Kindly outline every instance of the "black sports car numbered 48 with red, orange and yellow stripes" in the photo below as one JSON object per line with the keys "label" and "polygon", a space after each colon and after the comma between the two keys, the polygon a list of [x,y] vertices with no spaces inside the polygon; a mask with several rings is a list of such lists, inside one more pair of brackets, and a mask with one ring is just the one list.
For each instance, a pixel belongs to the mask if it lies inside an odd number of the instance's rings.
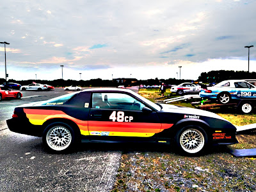
{"label": "black sports car numbered 48 with red, orange and yellow stripes", "polygon": [[237,143],[236,127],[219,115],[156,104],[127,89],[86,89],[20,105],[7,124],[11,131],[43,137],[52,151],[81,142],[174,140],[180,152],[199,154],[207,144]]}

